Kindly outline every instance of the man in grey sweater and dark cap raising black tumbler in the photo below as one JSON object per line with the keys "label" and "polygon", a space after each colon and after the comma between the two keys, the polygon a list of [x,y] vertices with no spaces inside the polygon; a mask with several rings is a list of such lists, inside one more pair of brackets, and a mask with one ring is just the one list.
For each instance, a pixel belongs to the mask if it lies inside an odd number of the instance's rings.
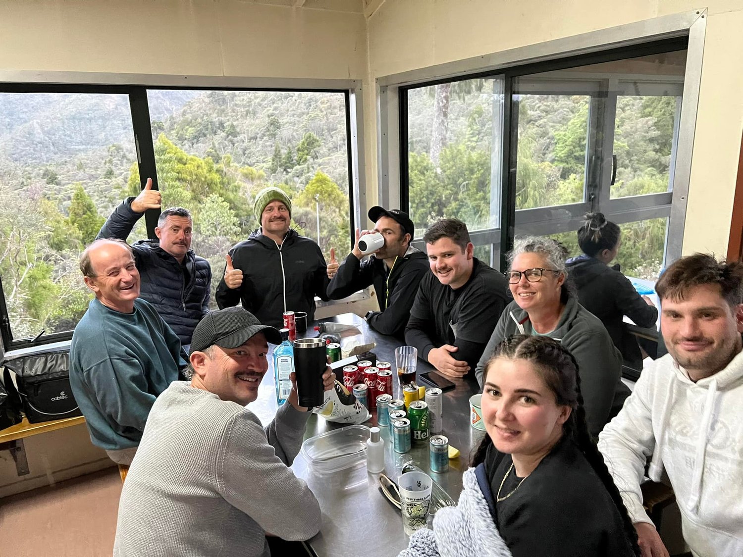
{"label": "man in grey sweater and dark cap raising black tumbler", "polygon": [[[114,556],[268,556],[267,535],[317,534],[317,499],[289,468],[310,415],[299,406],[294,374],[265,429],[245,408],[268,369],[268,342],[279,344],[279,331],[242,307],[196,325],[191,381],[173,382],[152,405],[126,477]],[[332,388],[330,368],[322,380]]]}

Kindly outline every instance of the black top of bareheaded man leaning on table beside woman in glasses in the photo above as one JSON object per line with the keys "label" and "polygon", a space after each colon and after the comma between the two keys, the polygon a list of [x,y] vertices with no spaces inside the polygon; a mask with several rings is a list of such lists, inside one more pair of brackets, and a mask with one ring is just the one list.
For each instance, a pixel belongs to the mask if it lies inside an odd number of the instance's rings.
{"label": "black top of bareheaded man leaning on table beside woman in glasses", "polygon": [[[481,344],[484,349],[510,302],[507,290],[504,276],[478,258],[473,258],[470,279],[456,290],[441,284],[433,273],[426,273],[410,310],[409,326],[412,322],[425,333],[432,343],[428,350],[445,344],[457,345],[460,340]],[[421,356],[427,356],[428,350]],[[421,352],[421,347],[418,351]]]}

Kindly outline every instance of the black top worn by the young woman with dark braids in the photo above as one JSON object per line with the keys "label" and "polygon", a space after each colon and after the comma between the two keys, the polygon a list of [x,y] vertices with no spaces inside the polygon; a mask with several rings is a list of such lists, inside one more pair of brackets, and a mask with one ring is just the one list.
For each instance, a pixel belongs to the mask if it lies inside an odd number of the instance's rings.
{"label": "black top worn by the young woman with dark braids", "polygon": [[526,478],[514,467],[503,481],[512,463],[490,446],[485,471],[493,518],[513,557],[635,555],[611,495],[571,440],[560,440]]}

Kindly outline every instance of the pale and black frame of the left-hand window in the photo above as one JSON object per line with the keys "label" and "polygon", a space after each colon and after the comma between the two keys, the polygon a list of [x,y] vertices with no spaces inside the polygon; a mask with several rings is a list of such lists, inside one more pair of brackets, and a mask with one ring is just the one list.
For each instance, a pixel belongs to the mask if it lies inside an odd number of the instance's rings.
{"label": "pale and black frame of the left-hand window", "polygon": [[[179,79],[180,78],[180,79]],[[186,80],[190,79],[187,85]],[[212,76],[156,76],[143,74],[100,74],[89,72],[0,71],[0,93],[93,93],[126,94],[132,114],[132,132],[139,166],[140,188],[152,177],[158,189],[155,145],[149,116],[147,91],[154,89],[190,91],[268,91],[343,94],[345,108],[346,154],[348,159],[349,249],[353,247],[354,229],[366,216],[366,180],[363,172],[363,96],[362,83],[354,79],[271,79]],[[147,235],[155,238],[159,209],[145,213]],[[81,278],[82,280],[82,278]],[[10,351],[43,347],[53,342],[68,342],[73,330],[40,333],[36,338],[13,338],[10,315],[0,277],[0,357]]]}

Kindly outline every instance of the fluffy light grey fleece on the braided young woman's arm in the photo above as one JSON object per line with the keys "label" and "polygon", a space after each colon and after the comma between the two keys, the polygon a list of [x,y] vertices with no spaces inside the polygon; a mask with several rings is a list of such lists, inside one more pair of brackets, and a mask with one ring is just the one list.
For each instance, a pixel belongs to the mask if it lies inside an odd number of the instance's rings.
{"label": "fluffy light grey fleece on the braided young woman's arm", "polygon": [[440,509],[433,519],[433,530],[415,532],[398,557],[511,557],[475,470],[464,472],[457,506]]}

